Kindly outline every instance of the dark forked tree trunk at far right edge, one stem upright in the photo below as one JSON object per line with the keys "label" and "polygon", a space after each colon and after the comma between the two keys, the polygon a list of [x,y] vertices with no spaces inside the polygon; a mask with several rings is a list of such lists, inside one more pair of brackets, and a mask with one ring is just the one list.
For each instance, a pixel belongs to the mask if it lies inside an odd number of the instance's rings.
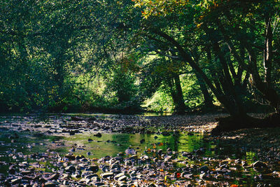
{"label": "dark forked tree trunk at far right edge, one stem upright", "polygon": [[[229,15],[228,15],[229,16]],[[230,18],[229,18],[230,19]],[[218,27],[221,30],[221,33],[223,34],[225,41],[227,41],[228,46],[230,48],[230,52],[232,53],[232,56],[235,57],[235,60],[239,62],[242,69],[245,69],[248,73],[252,75],[253,78],[253,85],[255,85],[255,88],[257,88],[261,93],[262,97],[267,99],[270,106],[272,106],[276,113],[280,112],[280,95],[279,93],[274,89],[272,85],[271,80],[271,72],[272,72],[272,40],[273,40],[273,32],[272,32],[272,20],[271,15],[269,12],[265,13],[265,46],[263,50],[263,67],[265,69],[265,78],[262,80],[259,69],[257,66],[257,54],[251,43],[244,40],[244,38],[239,37],[239,33],[241,33],[241,30],[238,28],[232,28],[232,31],[234,31],[237,35],[237,39],[240,42],[241,49],[244,48],[247,50],[249,55],[249,63],[244,63],[244,60],[238,55],[237,50],[235,46],[233,45],[230,37],[225,32],[225,28],[221,24],[221,22],[218,22]]]}

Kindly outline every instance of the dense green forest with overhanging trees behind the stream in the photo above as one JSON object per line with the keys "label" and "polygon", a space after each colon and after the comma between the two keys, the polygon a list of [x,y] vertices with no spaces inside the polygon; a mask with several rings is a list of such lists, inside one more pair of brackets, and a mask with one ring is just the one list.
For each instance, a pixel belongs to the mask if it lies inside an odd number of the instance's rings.
{"label": "dense green forest with overhanging trees behind the stream", "polygon": [[222,107],[255,122],[246,113],[280,111],[279,11],[276,0],[1,1],[0,111]]}

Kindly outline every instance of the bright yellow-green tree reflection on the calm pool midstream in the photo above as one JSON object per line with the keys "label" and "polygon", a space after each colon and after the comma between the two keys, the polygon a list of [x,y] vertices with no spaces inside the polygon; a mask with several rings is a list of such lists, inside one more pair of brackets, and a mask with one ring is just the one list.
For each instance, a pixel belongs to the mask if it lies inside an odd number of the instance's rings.
{"label": "bright yellow-green tree reflection on the calm pool midstream", "polygon": [[[198,148],[209,148],[210,144],[202,141],[202,134],[175,134],[163,136],[162,134],[102,134],[102,137],[94,137],[91,134],[77,134],[73,137],[65,137],[66,146],[75,146],[76,153],[86,155],[90,152],[90,158],[101,158],[106,155],[116,156],[125,152],[127,148],[134,148],[143,153],[147,148],[162,149],[166,151],[194,151]],[[88,139],[93,141],[89,142]]]}

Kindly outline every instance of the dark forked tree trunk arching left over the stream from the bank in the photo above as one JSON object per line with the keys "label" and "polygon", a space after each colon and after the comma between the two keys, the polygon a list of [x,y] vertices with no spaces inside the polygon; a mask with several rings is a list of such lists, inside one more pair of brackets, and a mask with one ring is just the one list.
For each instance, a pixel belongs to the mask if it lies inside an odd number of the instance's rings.
{"label": "dark forked tree trunk arching left over the stream from the bank", "polygon": [[[229,131],[229,130],[237,130],[237,129],[248,128],[248,127],[267,127],[267,125],[270,126],[279,125],[280,122],[279,113],[276,113],[274,116],[265,119],[253,118],[246,114],[243,108],[243,103],[239,98],[240,96],[236,92],[235,86],[232,83],[232,78],[229,74],[229,69],[223,58],[223,54],[221,53],[221,50],[217,45],[218,43],[214,42],[213,43],[214,45],[211,47],[214,49],[214,51],[216,50],[216,55],[219,57],[221,66],[223,67],[223,72],[220,73],[221,77],[218,76],[220,80],[214,81],[215,83],[214,85],[213,81],[211,81],[209,77],[204,73],[204,71],[202,71],[202,69],[197,64],[197,62],[193,60],[190,53],[186,52],[185,49],[180,45],[180,43],[178,43],[174,38],[172,38],[168,34],[165,34],[164,32],[160,32],[158,30],[153,32],[155,34],[158,34],[159,36],[162,36],[167,41],[169,41],[172,45],[174,45],[174,47],[177,48],[183,60],[186,60],[186,62],[190,64],[190,67],[195,69],[195,71],[197,71],[197,73],[200,74],[200,76],[202,76],[204,82],[207,83],[211,91],[214,92],[214,95],[217,97],[219,102],[221,102],[221,104],[225,106],[225,109],[228,110],[228,113],[230,113],[230,117],[218,119],[219,120],[218,126],[214,129],[213,133]],[[247,49],[247,46],[244,47]],[[237,53],[235,53],[235,55],[236,57],[239,57]],[[257,73],[256,75],[259,76],[258,72],[256,73]],[[263,82],[260,82],[261,85],[262,83]]]}

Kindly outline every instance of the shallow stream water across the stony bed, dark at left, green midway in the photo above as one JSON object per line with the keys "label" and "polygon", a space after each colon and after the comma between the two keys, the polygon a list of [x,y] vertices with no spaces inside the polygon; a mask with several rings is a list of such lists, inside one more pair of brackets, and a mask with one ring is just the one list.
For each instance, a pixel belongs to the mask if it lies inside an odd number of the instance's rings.
{"label": "shallow stream water across the stony bed, dark at left, green midway", "polygon": [[[47,116],[38,118],[38,116],[1,116],[0,118],[0,163],[1,162],[36,162],[32,158],[34,154],[55,153],[59,156],[73,153],[74,155],[85,155],[86,158],[99,159],[107,155],[116,157],[120,153],[126,153],[127,149],[136,151],[136,154],[149,154],[151,150],[157,153],[174,151],[180,153],[176,160],[186,160],[183,153],[197,153],[202,150],[200,160],[188,160],[196,165],[204,165],[210,162],[213,167],[220,161],[211,162],[209,158],[218,158],[221,160],[231,159],[244,160],[248,165],[258,160],[256,154],[251,151],[244,151],[240,148],[230,145],[219,145],[216,142],[205,141],[204,134],[190,132],[168,132],[162,134],[160,131],[148,130],[147,133],[119,133],[115,132],[115,126],[108,126],[103,129],[93,128],[87,121],[71,121],[71,115]],[[110,120],[119,120],[118,116],[111,115],[83,115],[83,118],[97,116],[100,120],[97,123],[111,124]],[[126,119],[130,119],[127,118]],[[139,118],[137,118],[139,119]],[[140,118],[143,120],[142,118]],[[144,122],[146,120],[143,120]],[[138,123],[138,122],[137,122]],[[146,123],[145,123],[146,124]],[[66,127],[66,125],[68,125]],[[69,126],[71,127],[69,130]],[[94,127],[95,127],[94,126]],[[151,128],[151,127],[147,127]],[[105,130],[104,130],[105,129]],[[73,130],[75,133],[71,134]],[[70,133],[69,133],[70,132]],[[97,135],[97,133],[100,133]],[[235,161],[232,161],[235,162]],[[231,183],[242,185],[256,185],[254,176],[260,172],[250,169],[238,169],[239,172],[232,174],[233,179],[228,179]],[[8,174],[8,165],[0,164],[0,174]],[[236,179],[235,179],[236,178]],[[238,180],[242,179],[243,182]],[[227,180],[227,179],[223,179]],[[269,179],[268,183],[279,184],[279,180]]]}

